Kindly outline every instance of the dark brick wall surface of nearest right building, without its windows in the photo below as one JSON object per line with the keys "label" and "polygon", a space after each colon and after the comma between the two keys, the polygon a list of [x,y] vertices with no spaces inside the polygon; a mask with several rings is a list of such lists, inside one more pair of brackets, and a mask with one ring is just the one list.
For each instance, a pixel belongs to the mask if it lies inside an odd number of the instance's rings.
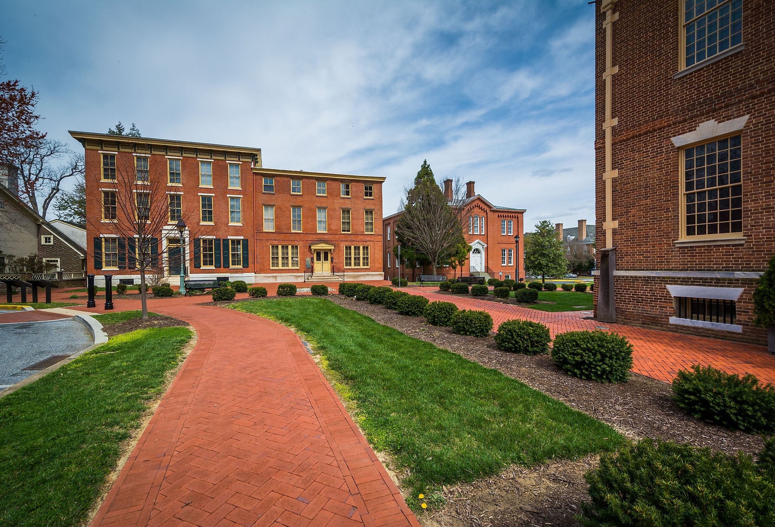
{"label": "dark brick wall surface of nearest right building, without its windows", "polygon": [[[763,343],[765,331],[753,325],[751,294],[757,274],[763,272],[775,252],[775,10],[766,0],[743,0],[744,45],[728,56],[710,57],[682,71],[684,2],[606,0],[598,5],[605,9],[611,3],[610,14],[618,13],[612,23],[611,41],[612,66],[618,67],[612,75],[611,91],[611,118],[616,119],[611,128],[611,157],[612,168],[618,171],[612,183],[611,219],[618,221],[618,227],[612,230],[610,240],[601,229],[597,247],[598,258],[601,248],[616,247],[616,319]],[[598,11],[598,226],[606,212],[605,20],[606,13]],[[738,132],[717,136],[698,132],[697,140],[683,144],[676,140],[679,146],[673,141],[711,120],[723,125],[746,116],[747,122]],[[707,129],[708,124],[704,127]],[[742,235],[719,234],[716,239],[687,236],[689,231],[681,226],[682,149],[735,134],[742,137]],[[654,273],[641,277],[633,276],[637,274],[634,271]],[[670,317],[676,316],[673,297],[666,287],[671,284],[744,288],[736,302],[737,325],[742,331],[670,323]],[[596,287],[596,314],[597,295]]]}

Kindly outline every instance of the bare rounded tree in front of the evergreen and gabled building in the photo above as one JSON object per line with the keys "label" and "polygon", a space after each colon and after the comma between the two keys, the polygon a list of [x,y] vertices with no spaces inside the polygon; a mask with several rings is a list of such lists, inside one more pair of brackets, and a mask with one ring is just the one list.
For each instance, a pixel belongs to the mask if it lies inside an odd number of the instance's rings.
{"label": "bare rounded tree in front of the evergreen and gabled building", "polygon": [[396,234],[402,243],[428,257],[436,274],[441,260],[452,255],[457,244],[463,242],[465,191],[460,178],[453,182],[451,197],[444,194],[442,182],[418,180],[414,187],[405,190]]}

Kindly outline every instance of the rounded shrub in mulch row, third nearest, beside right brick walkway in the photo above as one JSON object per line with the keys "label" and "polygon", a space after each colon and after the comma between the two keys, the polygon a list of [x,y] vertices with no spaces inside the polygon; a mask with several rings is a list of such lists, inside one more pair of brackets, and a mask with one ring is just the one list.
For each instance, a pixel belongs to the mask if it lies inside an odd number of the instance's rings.
{"label": "rounded shrub in mulch row, third nearest, beside right brick walkway", "polygon": [[569,331],[555,337],[552,360],[571,377],[627,382],[632,367],[632,344],[623,336],[599,329]]}

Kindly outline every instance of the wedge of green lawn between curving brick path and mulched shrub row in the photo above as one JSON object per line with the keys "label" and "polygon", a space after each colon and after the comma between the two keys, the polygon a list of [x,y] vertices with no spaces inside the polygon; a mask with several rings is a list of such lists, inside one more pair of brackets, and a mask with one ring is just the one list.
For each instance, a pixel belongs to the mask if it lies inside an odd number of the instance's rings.
{"label": "wedge of green lawn between curving brick path and mulched shrub row", "polygon": [[[413,495],[441,484],[615,449],[617,432],[540,391],[323,298],[230,306],[302,332],[377,450],[410,469]],[[416,505],[416,504],[415,504]]]}

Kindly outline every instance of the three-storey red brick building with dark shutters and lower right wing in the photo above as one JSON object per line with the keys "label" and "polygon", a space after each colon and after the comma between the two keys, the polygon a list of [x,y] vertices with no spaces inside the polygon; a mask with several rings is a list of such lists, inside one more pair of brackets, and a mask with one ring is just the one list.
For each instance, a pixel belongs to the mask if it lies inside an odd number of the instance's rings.
{"label": "three-storey red brick building with dark shutters and lower right wing", "polygon": [[126,210],[158,226],[151,267],[172,284],[181,261],[191,277],[248,283],[382,277],[384,177],[266,169],[259,148],[71,136],[84,146],[87,270],[97,284],[104,274],[139,281],[136,243],[120,227]]}

